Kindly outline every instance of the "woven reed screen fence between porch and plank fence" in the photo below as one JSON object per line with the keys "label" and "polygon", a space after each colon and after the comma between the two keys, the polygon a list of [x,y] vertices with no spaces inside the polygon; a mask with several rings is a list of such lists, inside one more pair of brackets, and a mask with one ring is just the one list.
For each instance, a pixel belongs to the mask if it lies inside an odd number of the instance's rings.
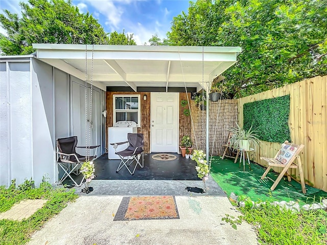
{"label": "woven reed screen fence between porch and plank fence", "polygon": [[[227,142],[228,129],[236,127],[237,106],[237,100],[209,101],[209,151],[213,156],[223,155],[224,148],[222,145]],[[191,113],[194,126],[194,131],[192,130],[193,148],[196,149],[197,142],[198,150],[205,151],[206,111],[200,110],[192,101]],[[214,144],[215,131],[216,140]]]}

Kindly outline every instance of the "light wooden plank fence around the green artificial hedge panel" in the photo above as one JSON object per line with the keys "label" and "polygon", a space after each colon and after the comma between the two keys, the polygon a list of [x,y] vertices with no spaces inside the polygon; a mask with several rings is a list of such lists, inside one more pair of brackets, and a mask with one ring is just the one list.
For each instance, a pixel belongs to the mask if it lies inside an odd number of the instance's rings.
{"label": "light wooden plank fence around the green artificial hedge panel", "polygon": [[[327,76],[315,77],[284,87],[238,99],[239,124],[243,126],[245,103],[290,95],[289,127],[292,142],[304,144],[300,157],[307,184],[327,191]],[[269,118],[268,118],[269,119]],[[251,154],[252,160],[261,165],[260,157],[274,157],[281,144],[261,141],[261,148]],[[275,171],[281,169],[275,168]],[[299,179],[298,170],[291,175]]]}

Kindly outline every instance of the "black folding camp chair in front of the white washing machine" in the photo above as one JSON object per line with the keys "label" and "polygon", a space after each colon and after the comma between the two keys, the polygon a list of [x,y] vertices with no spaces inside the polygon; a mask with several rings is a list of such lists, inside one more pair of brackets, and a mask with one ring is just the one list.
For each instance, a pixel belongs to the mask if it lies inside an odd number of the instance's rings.
{"label": "black folding camp chair in front of the white washing machine", "polygon": [[[127,148],[123,151],[116,152],[117,146],[122,144],[128,144]],[[144,167],[144,154],[143,154],[143,146],[144,146],[144,139],[143,134],[134,134],[128,133],[127,134],[127,141],[125,142],[118,142],[118,143],[111,143],[115,150],[115,154],[118,155],[121,159],[121,162],[116,169],[116,173],[125,166],[131,175],[134,175],[135,169],[137,165],[140,167]],[[142,157],[142,159],[141,159]],[[125,159],[126,158],[126,159]],[[139,161],[142,161],[140,163]],[[133,171],[129,169],[130,166],[135,161],[135,166]]]}

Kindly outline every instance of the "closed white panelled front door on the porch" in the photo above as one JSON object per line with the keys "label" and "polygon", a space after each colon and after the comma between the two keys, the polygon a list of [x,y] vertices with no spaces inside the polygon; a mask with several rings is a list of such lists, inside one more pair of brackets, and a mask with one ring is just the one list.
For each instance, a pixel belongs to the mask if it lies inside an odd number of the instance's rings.
{"label": "closed white panelled front door on the porch", "polygon": [[178,152],[178,93],[151,93],[151,152]]}

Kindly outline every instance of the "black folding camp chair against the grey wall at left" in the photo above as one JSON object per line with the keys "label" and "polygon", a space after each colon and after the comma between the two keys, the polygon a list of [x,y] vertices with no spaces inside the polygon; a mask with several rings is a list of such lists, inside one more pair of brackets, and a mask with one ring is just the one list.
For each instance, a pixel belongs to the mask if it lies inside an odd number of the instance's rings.
{"label": "black folding camp chair against the grey wall at left", "polygon": [[64,171],[63,176],[58,181],[58,185],[60,185],[67,177],[71,179],[76,186],[81,186],[84,180],[84,177],[80,184],[77,184],[73,179],[72,174],[79,175],[79,167],[85,162],[86,157],[81,156],[76,153],[76,148],[89,148],[95,149],[94,156],[90,156],[89,160],[95,159],[97,157],[97,149],[100,145],[94,146],[77,146],[77,136],[71,136],[67,138],[59,138],[57,139],[57,167],[59,171],[59,166]]}

